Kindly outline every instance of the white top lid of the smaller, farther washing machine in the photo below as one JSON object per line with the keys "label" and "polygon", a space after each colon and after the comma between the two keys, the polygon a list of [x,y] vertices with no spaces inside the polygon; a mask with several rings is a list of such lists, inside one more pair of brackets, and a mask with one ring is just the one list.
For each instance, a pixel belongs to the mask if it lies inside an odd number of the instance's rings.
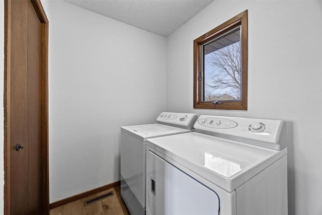
{"label": "white top lid of the smaller, farther washing machine", "polygon": [[171,134],[180,134],[186,132],[192,132],[194,130],[187,130],[183,128],[163,125],[163,124],[144,124],[144,125],[131,125],[123,126],[121,130],[140,139],[146,141],[147,138],[165,136]]}

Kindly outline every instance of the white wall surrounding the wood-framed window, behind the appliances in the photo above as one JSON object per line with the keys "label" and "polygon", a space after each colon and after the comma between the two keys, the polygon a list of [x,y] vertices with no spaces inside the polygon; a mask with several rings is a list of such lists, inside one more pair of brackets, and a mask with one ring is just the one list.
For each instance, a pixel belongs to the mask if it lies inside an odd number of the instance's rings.
{"label": "white wall surrounding the wood-framed window, behind the appliances", "polygon": [[[246,9],[248,110],[193,109],[193,40]],[[167,111],[287,122],[292,215],[322,214],[321,20],[321,1],[215,1],[167,40]]]}

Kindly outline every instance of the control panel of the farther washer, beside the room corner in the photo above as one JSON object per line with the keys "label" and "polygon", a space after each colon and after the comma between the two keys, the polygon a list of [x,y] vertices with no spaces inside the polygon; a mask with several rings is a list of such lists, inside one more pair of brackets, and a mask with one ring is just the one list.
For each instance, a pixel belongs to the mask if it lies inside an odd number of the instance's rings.
{"label": "control panel of the farther washer, beside the room corner", "polygon": [[194,129],[198,116],[195,113],[172,113],[162,112],[156,118],[156,121],[160,124],[167,124],[178,126],[186,129]]}

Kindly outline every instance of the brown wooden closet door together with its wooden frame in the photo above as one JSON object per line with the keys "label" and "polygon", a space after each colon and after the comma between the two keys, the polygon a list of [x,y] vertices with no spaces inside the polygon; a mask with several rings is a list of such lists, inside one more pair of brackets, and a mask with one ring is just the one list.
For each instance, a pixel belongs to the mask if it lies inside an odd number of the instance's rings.
{"label": "brown wooden closet door together with its wooden frame", "polygon": [[[48,21],[5,2],[5,213],[48,214]],[[24,147],[17,151],[17,144]]]}

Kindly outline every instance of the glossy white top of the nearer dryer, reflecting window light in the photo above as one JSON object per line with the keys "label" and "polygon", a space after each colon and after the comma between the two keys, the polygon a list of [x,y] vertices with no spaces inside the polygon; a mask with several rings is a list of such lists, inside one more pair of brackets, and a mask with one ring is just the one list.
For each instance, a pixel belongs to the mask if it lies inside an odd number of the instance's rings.
{"label": "glossy white top of the nearer dryer, reflecting window light", "polygon": [[149,139],[147,146],[228,192],[286,154],[196,132]]}

